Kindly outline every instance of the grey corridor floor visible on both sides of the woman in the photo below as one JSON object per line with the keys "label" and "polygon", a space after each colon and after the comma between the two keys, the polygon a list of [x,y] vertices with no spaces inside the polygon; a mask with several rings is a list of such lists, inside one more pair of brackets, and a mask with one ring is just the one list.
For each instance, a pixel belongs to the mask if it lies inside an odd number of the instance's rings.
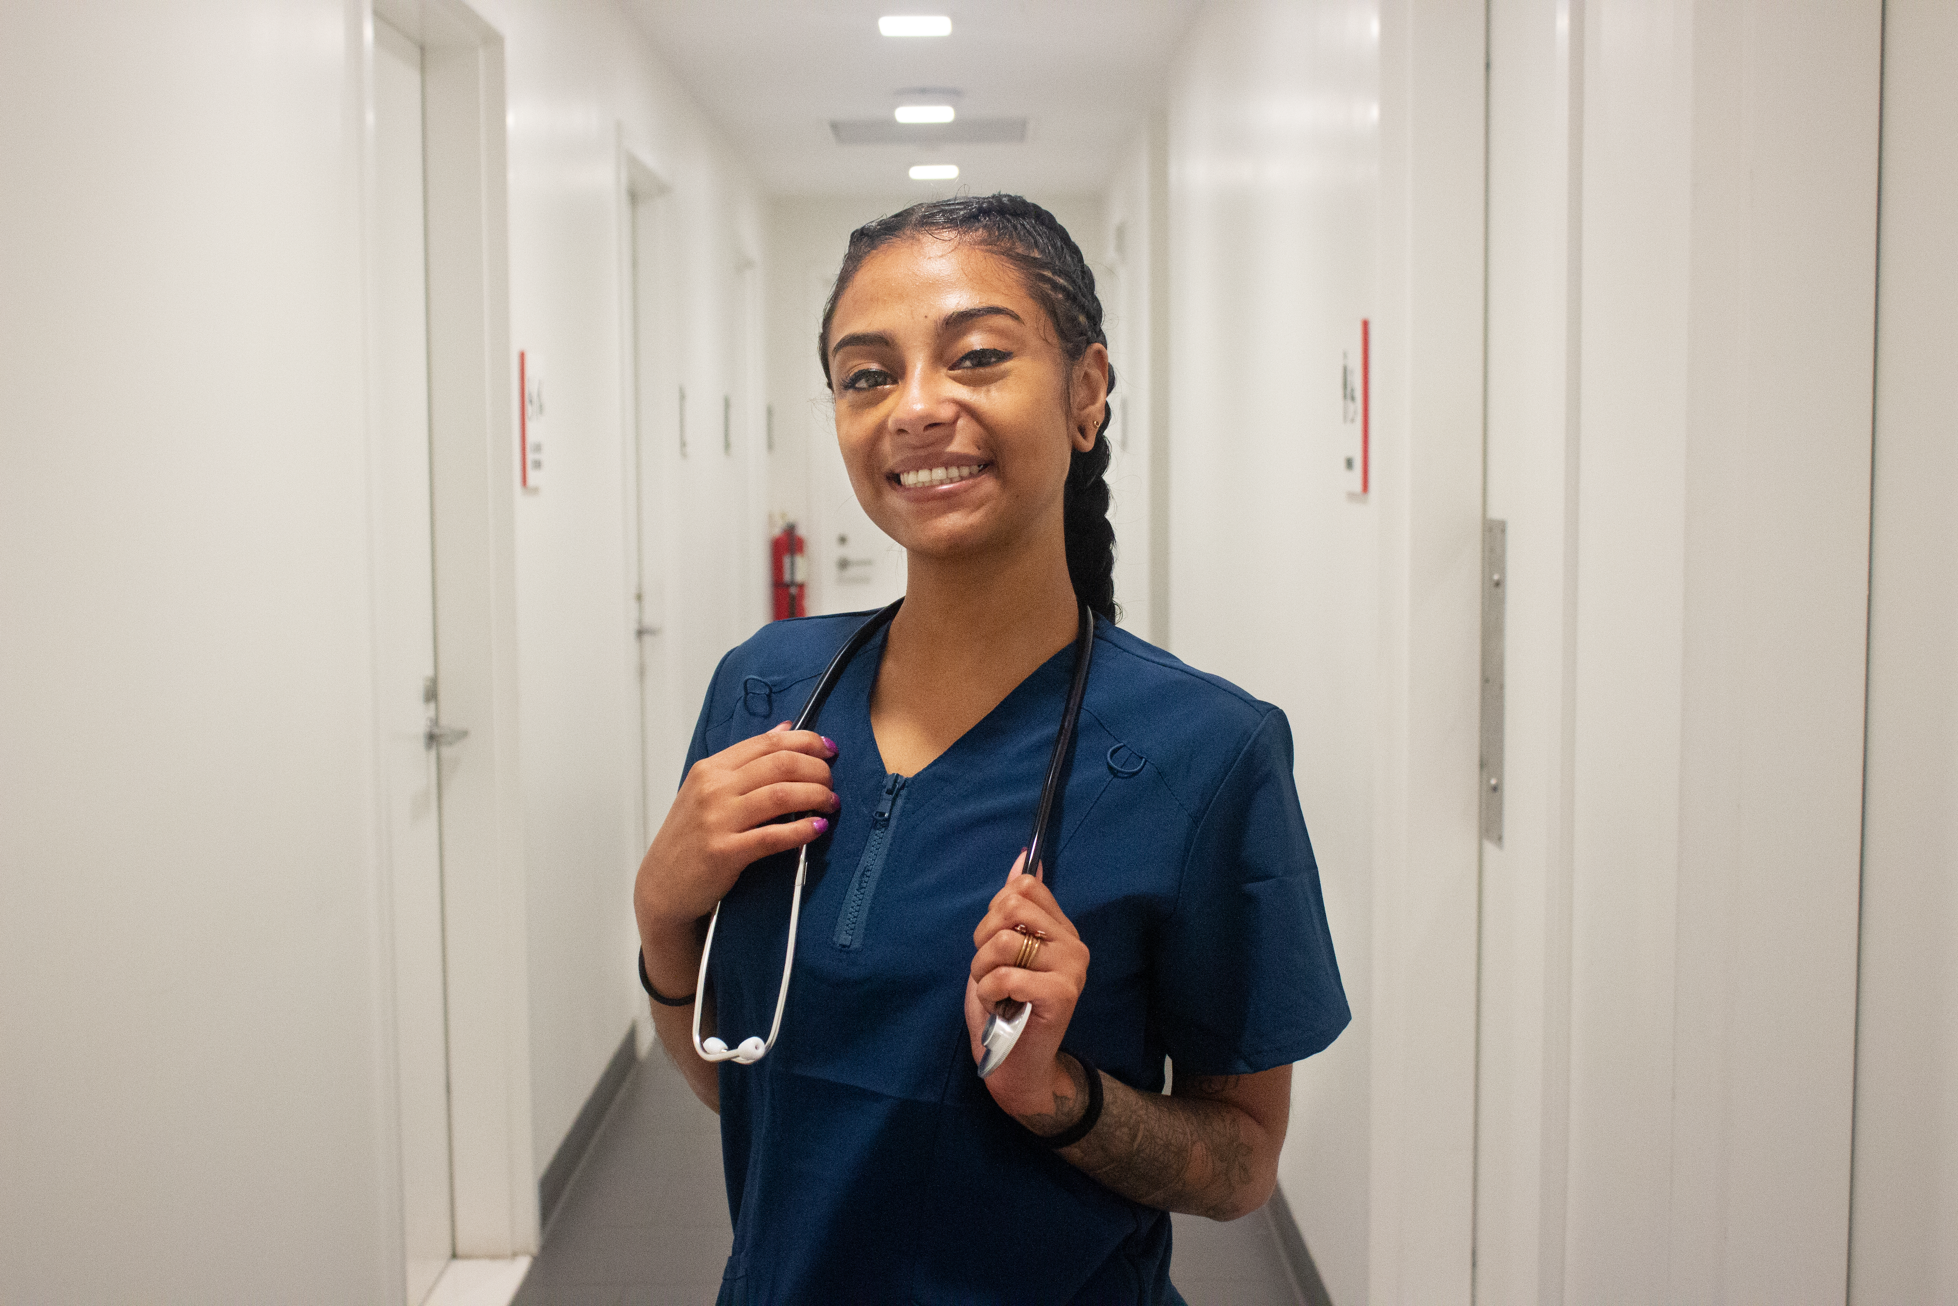
{"label": "grey corridor floor visible on both sides of the woman", "polygon": [[[1300,1306],[1267,1214],[1175,1216],[1190,1306]],[[707,1306],[728,1239],[721,1134],[658,1049],[627,1079],[511,1306]]]}

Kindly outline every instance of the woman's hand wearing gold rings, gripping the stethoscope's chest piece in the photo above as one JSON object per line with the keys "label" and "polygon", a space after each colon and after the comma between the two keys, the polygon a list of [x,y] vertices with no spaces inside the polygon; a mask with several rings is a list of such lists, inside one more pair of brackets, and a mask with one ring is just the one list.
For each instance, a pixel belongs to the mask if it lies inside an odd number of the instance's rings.
{"label": "woman's hand wearing gold rings, gripping the stethoscope's chest piece", "polygon": [[[965,1030],[977,1063],[985,1055],[979,1036],[993,1008],[1002,999],[1032,1003],[1020,1042],[985,1087],[1006,1114],[1046,1124],[1055,1098],[1075,1095],[1075,1079],[1057,1053],[1089,979],[1089,948],[1048,885],[1038,875],[1020,873],[1024,862],[1022,852],[1006,873],[1006,887],[993,895],[985,920],[973,930],[977,952],[965,981]],[[1028,934],[1046,938],[1022,969],[1014,961]]]}

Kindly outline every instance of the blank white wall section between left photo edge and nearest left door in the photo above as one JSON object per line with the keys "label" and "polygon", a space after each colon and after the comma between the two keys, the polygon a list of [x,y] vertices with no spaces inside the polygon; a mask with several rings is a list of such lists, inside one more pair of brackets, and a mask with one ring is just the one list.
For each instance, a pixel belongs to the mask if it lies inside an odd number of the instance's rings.
{"label": "blank white wall section between left photo edge and nearest left door", "polygon": [[399,1284],[358,49],[341,0],[8,12],[8,1300]]}

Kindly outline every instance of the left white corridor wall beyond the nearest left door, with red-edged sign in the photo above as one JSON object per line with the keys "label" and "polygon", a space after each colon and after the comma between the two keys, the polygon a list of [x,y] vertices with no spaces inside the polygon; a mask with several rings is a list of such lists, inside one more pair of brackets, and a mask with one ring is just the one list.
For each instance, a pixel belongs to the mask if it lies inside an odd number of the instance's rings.
{"label": "left white corridor wall beyond the nearest left door, with red-edged sign", "polygon": [[[656,276],[672,372],[687,386],[689,456],[646,431],[683,548],[666,638],[691,730],[715,662],[766,619],[766,523],[750,503],[760,411],[746,390],[738,264],[764,255],[758,192],[613,0],[486,0],[509,63],[511,339],[546,366],[544,486],[517,503],[519,666],[529,848],[531,1077],[542,1171],[640,1008],[630,883],[638,846],[625,217],[621,145],[660,174]],[[723,452],[721,397],[734,397]],[[652,403],[674,413],[676,403]],[[730,601],[730,595],[732,597]],[[683,750],[683,740],[679,750]],[[648,758],[672,791],[681,754]],[[664,809],[646,813],[658,826]]]}

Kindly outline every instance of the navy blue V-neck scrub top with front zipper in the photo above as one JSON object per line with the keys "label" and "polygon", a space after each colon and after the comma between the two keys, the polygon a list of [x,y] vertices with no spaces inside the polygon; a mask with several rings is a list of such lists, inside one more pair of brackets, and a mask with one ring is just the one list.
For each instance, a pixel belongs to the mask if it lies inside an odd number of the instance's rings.
{"label": "navy blue V-neck scrub top with front zipper", "polygon": [[[764,627],[721,660],[687,766],[801,713],[867,613]],[[1091,950],[1065,1048],[1142,1091],[1326,1048],[1349,1014],[1292,785],[1284,713],[1096,625],[1055,897]],[[1104,1189],[985,1091],[965,1034],[971,934],[1026,842],[1073,642],[916,775],[869,726],[883,634],[815,728],[842,811],[811,846],[773,1051],[721,1065],[734,1251],[721,1302],[1177,1302],[1169,1216]],[[721,1038],[768,1036],[795,854],[721,907]]]}

